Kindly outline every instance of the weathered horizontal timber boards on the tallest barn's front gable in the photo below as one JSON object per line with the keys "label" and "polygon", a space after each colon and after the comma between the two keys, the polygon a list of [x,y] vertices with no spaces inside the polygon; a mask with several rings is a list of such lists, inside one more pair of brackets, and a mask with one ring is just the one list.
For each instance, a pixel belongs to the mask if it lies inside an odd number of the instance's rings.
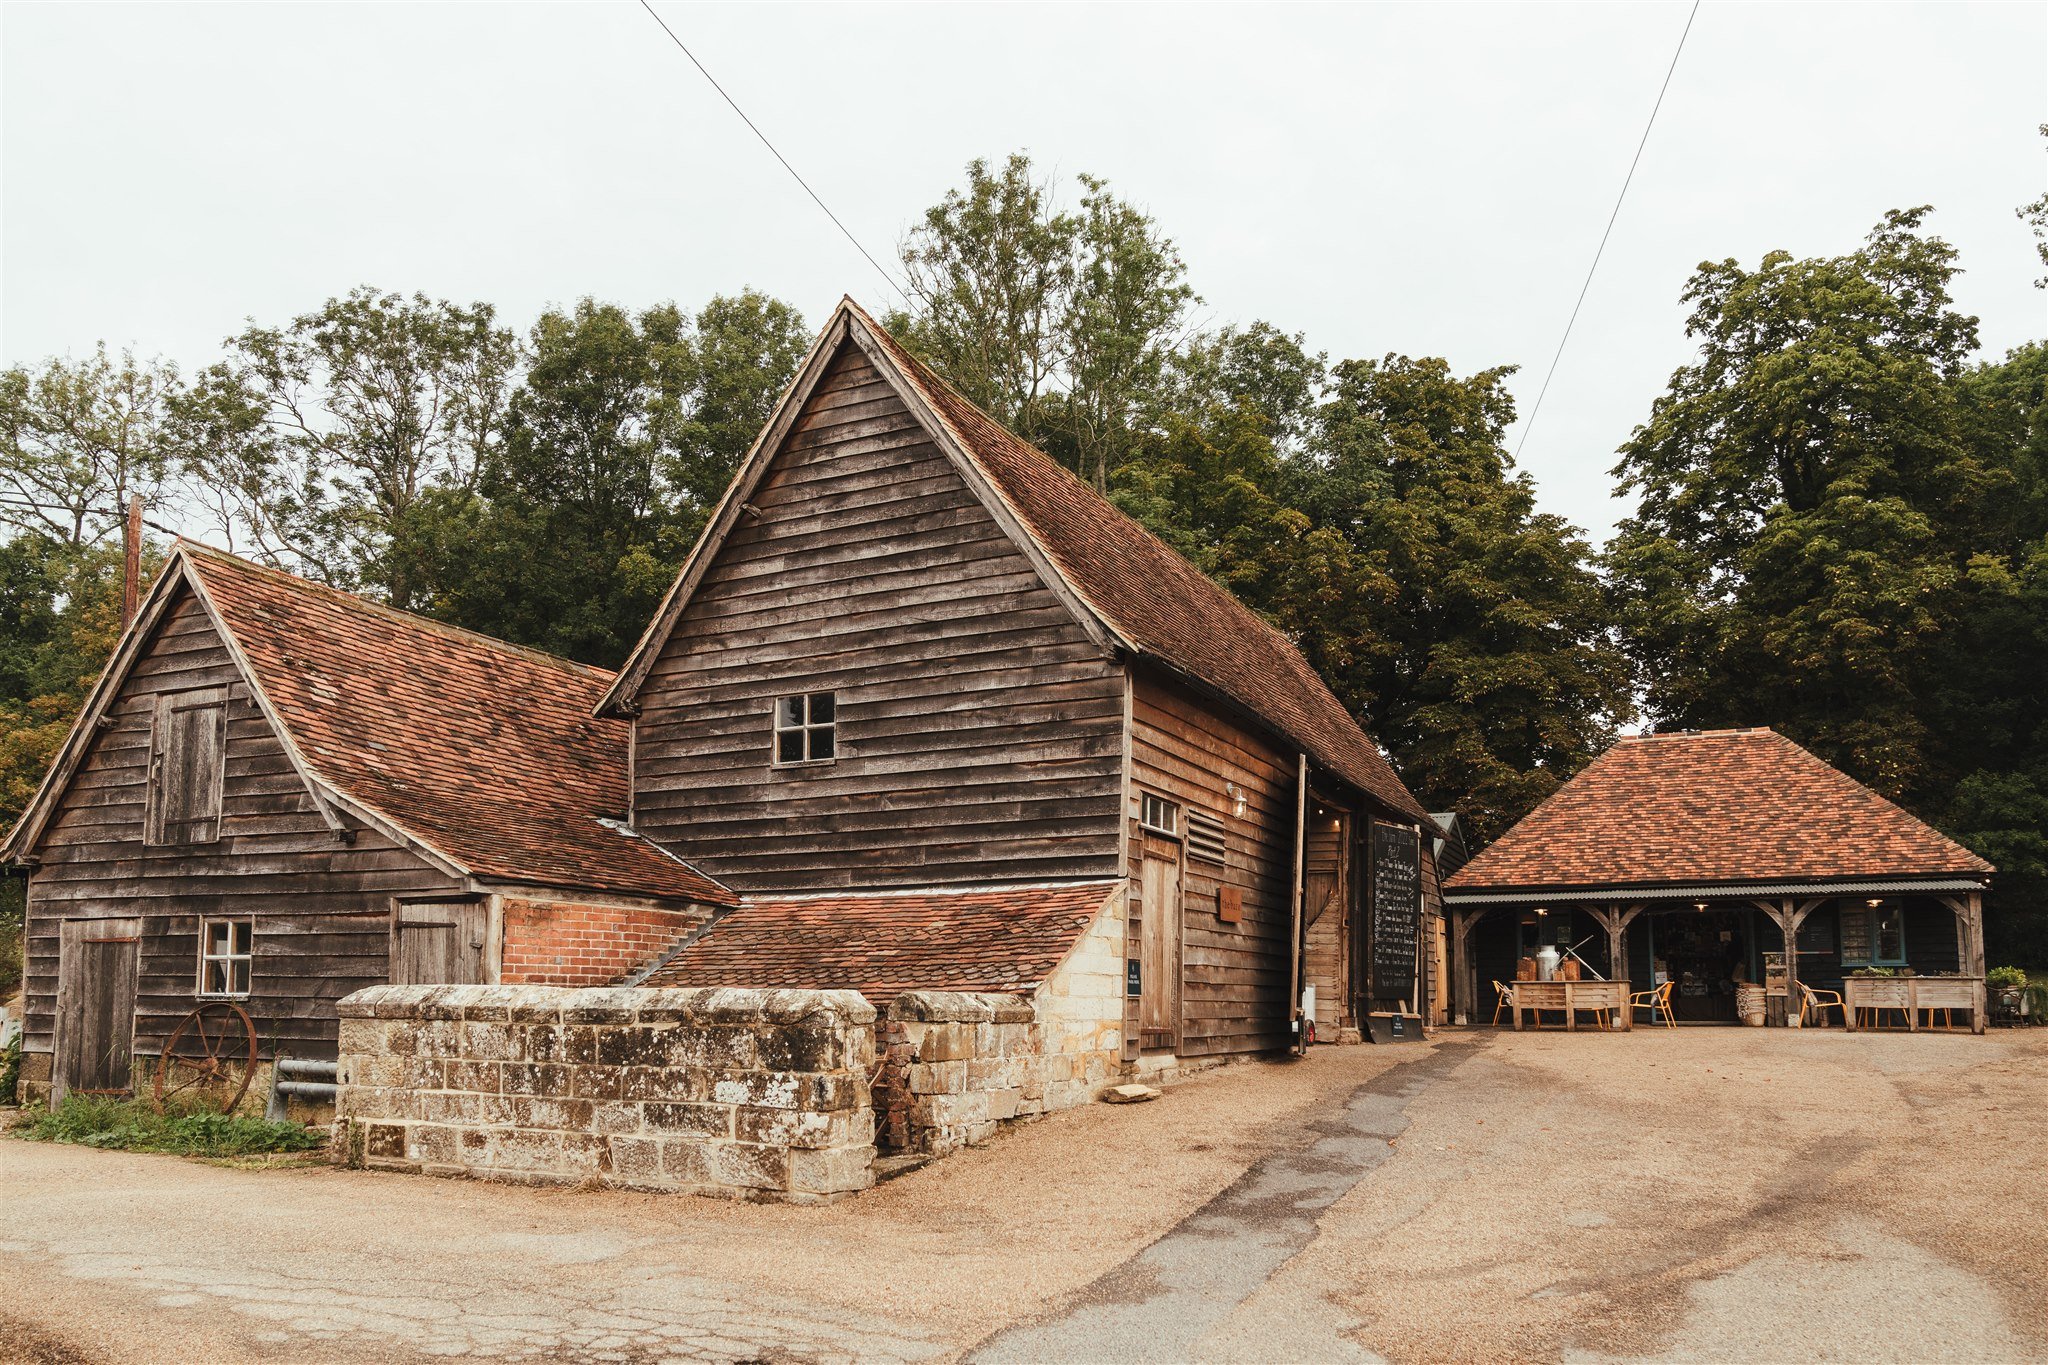
{"label": "weathered horizontal timber boards on the tallest barn's front gable", "polygon": [[[836,759],[776,767],[817,692]],[[1114,874],[1122,669],[854,346],[637,700],[639,829],[733,886]]]}

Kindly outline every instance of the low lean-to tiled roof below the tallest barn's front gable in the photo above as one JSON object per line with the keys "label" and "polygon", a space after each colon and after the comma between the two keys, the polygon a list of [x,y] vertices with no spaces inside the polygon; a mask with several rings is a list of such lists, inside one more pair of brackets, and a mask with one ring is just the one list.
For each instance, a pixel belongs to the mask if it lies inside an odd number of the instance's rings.
{"label": "low lean-to tiled roof below the tallest barn's front gable", "polygon": [[748,896],[645,986],[1034,990],[1118,882],[999,890]]}

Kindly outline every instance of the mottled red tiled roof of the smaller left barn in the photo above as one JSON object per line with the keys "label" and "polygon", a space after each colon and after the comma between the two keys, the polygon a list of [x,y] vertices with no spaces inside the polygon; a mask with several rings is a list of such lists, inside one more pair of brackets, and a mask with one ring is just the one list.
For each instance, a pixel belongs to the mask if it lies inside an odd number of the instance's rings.
{"label": "mottled red tiled roof of the smaller left barn", "polygon": [[635,835],[612,675],[180,544],[319,784],[473,876],[731,905]]}

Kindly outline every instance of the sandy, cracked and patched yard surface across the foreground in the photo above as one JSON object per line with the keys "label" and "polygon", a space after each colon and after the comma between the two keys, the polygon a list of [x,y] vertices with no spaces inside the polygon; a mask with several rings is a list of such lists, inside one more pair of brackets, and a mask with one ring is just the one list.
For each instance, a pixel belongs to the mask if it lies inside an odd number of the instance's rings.
{"label": "sandy, cracked and patched yard surface across the foreground", "polygon": [[0,1359],[2048,1361],[2048,1029],[1450,1031],[825,1209],[0,1142]]}

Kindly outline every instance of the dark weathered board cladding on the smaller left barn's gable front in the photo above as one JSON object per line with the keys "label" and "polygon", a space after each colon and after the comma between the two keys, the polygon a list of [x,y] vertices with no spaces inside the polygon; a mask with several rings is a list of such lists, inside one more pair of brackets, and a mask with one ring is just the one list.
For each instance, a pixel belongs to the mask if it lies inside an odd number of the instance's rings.
{"label": "dark weathered board cladding on the smaller left barn's gable front", "polygon": [[[219,690],[225,763],[207,841],[145,841],[160,698]],[[334,1001],[385,980],[393,896],[451,878],[373,829],[328,829],[190,591],[166,610],[39,843],[29,880],[25,1046],[51,1048],[66,921],[135,919],[135,1052],[197,1003],[203,917],[254,921],[250,997],[264,1056],[334,1054]],[[176,835],[176,831],[168,831]]]}

